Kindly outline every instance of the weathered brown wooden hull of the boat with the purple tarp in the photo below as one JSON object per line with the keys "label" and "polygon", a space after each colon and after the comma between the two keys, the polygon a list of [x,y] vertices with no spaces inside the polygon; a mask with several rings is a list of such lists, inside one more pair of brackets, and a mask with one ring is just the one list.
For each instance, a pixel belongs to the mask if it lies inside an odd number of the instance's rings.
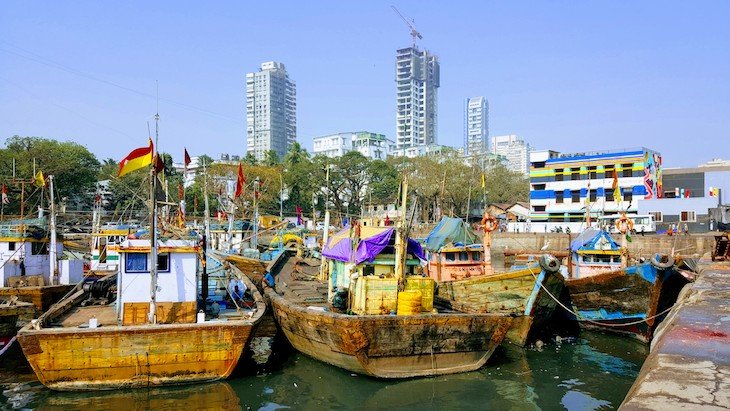
{"label": "weathered brown wooden hull of the boat with the purple tarp", "polygon": [[501,315],[355,316],[308,309],[267,292],[298,351],[351,372],[409,378],[482,367],[510,327]]}

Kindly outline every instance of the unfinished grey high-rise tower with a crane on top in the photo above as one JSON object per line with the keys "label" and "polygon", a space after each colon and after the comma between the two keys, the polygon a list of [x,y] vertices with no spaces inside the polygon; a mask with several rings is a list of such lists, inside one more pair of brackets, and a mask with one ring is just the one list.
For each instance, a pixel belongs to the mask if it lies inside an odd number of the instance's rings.
{"label": "unfinished grey high-rise tower with a crane on top", "polygon": [[396,148],[437,144],[438,57],[416,46],[396,57]]}

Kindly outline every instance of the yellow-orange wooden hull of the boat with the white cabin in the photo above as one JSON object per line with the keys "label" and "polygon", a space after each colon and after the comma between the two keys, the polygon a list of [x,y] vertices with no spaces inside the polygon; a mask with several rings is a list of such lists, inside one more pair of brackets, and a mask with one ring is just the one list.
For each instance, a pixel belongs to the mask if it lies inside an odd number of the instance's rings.
{"label": "yellow-orange wooden hull of the boat with the white cabin", "polygon": [[60,391],[189,384],[226,378],[253,325],[234,322],[20,330],[43,385]]}

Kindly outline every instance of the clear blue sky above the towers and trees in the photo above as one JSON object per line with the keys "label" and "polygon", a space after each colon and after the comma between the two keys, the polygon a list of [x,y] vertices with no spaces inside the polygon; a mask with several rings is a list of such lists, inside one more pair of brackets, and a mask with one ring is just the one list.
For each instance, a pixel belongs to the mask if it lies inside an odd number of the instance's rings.
{"label": "clear blue sky above the towers and trees", "polygon": [[730,158],[728,1],[3,1],[0,141],[73,140],[119,160],[145,144],[159,80],[162,150],[242,154],[245,74],[269,60],[297,83],[305,147],[338,131],[393,138],[410,36],[390,4],[440,58],[440,144],[461,145],[464,99],[484,95],[491,134],[536,148]]}

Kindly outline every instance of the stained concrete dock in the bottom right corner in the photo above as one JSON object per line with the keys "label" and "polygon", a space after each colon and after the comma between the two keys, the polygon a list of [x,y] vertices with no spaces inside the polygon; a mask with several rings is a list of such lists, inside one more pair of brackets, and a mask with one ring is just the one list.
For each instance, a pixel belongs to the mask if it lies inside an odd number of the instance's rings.
{"label": "stained concrete dock in the bottom right corner", "polygon": [[660,325],[621,409],[730,409],[730,263],[701,267]]}

